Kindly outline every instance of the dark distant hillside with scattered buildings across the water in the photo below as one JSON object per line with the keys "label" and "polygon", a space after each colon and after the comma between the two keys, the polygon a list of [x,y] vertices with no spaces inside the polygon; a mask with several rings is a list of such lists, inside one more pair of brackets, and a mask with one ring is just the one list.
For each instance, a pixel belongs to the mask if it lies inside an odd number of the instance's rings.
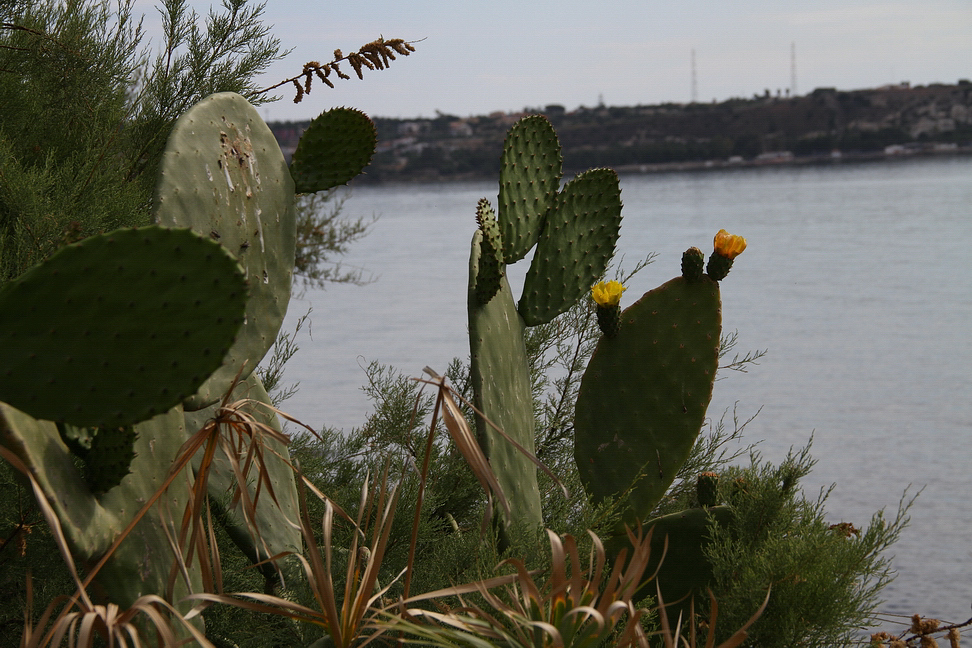
{"label": "dark distant hillside with scattered buildings across the water", "polygon": [[[972,83],[872,90],[818,88],[712,104],[563,106],[478,117],[374,118],[378,151],[363,181],[495,177],[503,138],[523,115],[557,129],[565,171],[816,162],[972,151]],[[270,124],[291,153],[306,123]],[[357,182],[357,181],[356,181]]]}

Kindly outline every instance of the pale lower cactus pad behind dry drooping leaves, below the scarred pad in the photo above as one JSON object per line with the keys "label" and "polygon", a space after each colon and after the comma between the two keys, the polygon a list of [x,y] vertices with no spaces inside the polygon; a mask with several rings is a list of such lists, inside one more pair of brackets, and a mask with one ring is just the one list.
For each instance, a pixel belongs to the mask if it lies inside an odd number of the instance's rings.
{"label": "pale lower cactus pad behind dry drooping leaves, below the scarred pad", "polygon": [[[241,382],[233,393],[233,399],[247,398],[256,403],[270,405],[263,383],[256,373]],[[192,435],[198,432],[216,415],[219,403],[204,410],[186,412],[186,431]],[[241,411],[253,416],[259,423],[268,425],[277,432],[281,431],[276,414],[266,407],[254,403],[243,405]],[[290,452],[275,439],[264,436],[264,467],[270,476],[276,502],[267,492],[264,484],[257,500],[257,516],[254,520],[258,533],[254,534],[243,516],[241,505],[229,508],[227,504],[236,488],[237,481],[233,468],[220,448],[213,458],[209,473],[209,495],[217,507],[220,520],[233,542],[254,563],[266,560],[283,552],[300,552],[303,545],[300,535],[299,512],[297,508],[297,484],[294,470],[289,465]],[[198,471],[201,452],[193,458],[193,469]],[[239,458],[242,463],[243,457]],[[250,497],[256,495],[256,467],[251,467],[247,488]],[[267,573],[272,573],[272,565],[266,565]]]}

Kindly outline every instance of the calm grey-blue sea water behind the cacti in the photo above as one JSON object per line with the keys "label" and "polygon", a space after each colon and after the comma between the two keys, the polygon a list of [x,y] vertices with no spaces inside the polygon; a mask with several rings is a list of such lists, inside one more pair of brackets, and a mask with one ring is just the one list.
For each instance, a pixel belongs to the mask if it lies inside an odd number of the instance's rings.
{"label": "calm grey-blue sea water behind the cacti", "polygon": [[[347,431],[370,409],[370,361],[418,376],[468,354],[466,277],[477,199],[495,183],[353,191],[348,216],[377,216],[345,261],[371,275],[291,303],[313,308],[286,378],[286,409]],[[834,522],[889,515],[924,489],[894,546],[889,613],[972,616],[972,158],[625,176],[620,253],[655,263],[625,301],[679,272],[681,252],[711,249],[720,228],[746,253],[723,282],[737,350],[766,349],[749,373],[716,383],[710,416],[736,408],[778,461],[813,436],[815,496],[836,483]],[[525,268],[512,276],[522,277]],[[515,287],[514,294],[518,294]]]}

